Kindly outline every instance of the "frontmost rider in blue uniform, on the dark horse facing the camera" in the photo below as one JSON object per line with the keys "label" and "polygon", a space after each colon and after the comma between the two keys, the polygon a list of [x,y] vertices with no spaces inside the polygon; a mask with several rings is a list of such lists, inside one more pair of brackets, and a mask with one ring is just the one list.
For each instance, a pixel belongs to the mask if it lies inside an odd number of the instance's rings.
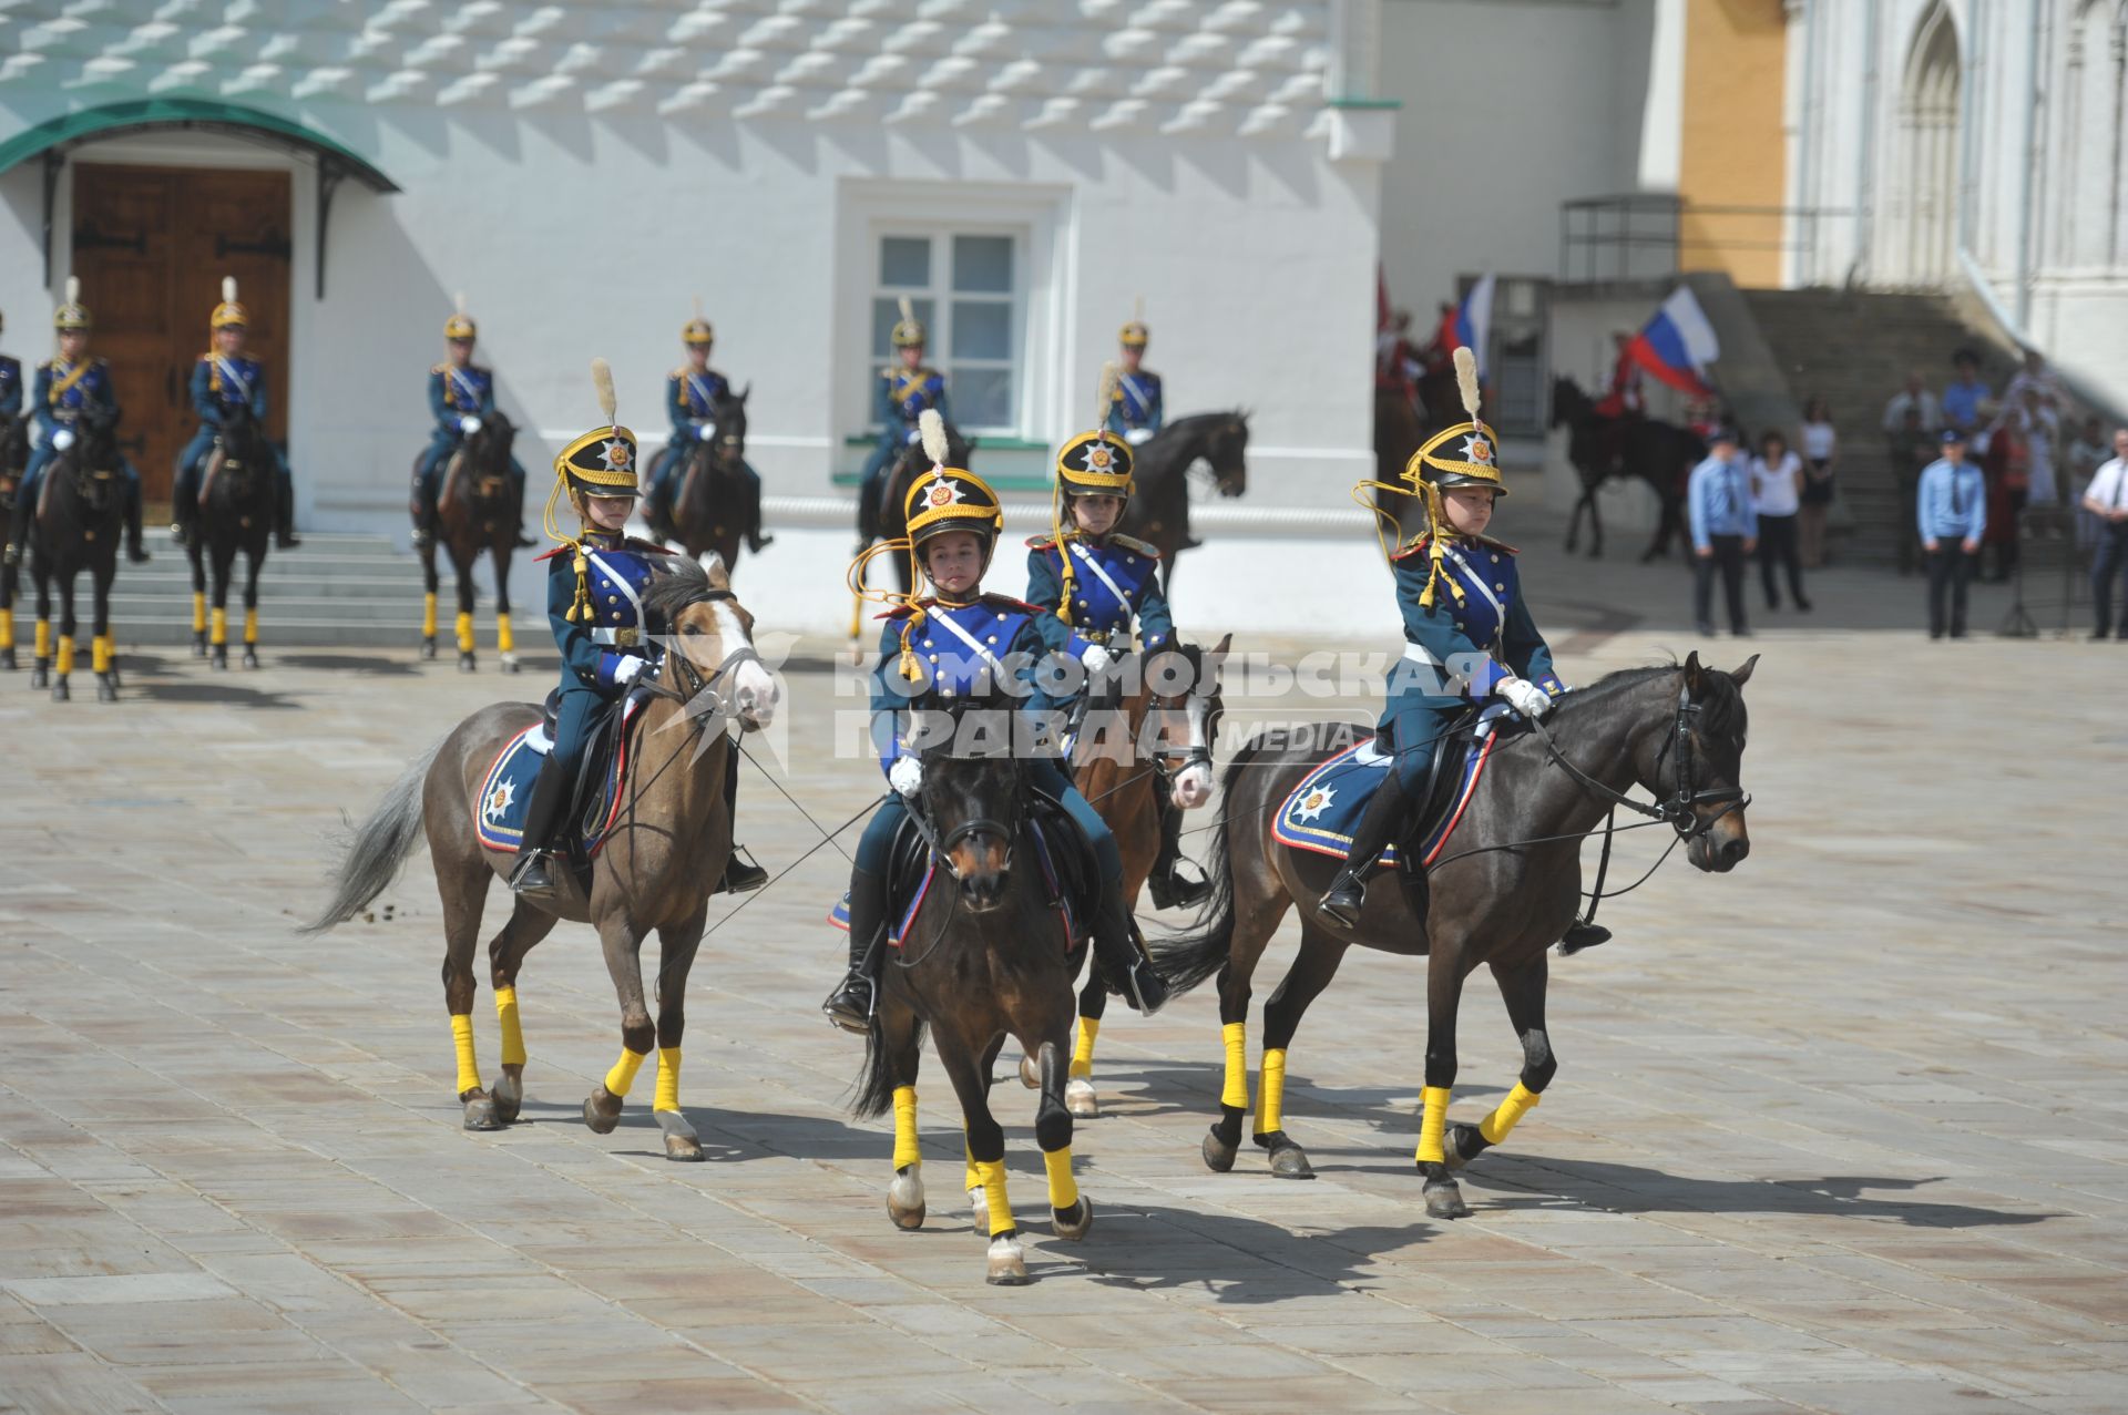
{"label": "frontmost rider in blue uniform, on the dark horse facing the camera", "polygon": [[[875,547],[851,566],[855,579],[872,553],[907,551],[921,564],[936,594],[904,596],[885,615],[887,626],[879,636],[872,745],[879,747],[879,766],[892,789],[866,823],[849,872],[849,975],[821,1004],[828,1019],[847,1032],[870,1026],[879,977],[877,938],[887,919],[890,853],[902,817],[924,789],[924,762],[904,740],[902,713],[926,689],[941,698],[968,696],[1004,675],[1030,685],[1036,664],[1047,657],[1038,626],[1045,611],[983,592],[983,572],[1004,528],[998,494],[975,472],[945,466],[945,421],[936,413],[924,413],[921,434],[932,468],[909,487],[909,538]],[[911,583],[917,583],[915,572]],[[1036,692],[1028,706],[1041,711],[1049,700]],[[1030,758],[1026,766],[1034,787],[1055,798],[1094,845],[1100,864],[1094,958],[1109,987],[1151,1015],[1166,1002],[1166,983],[1145,962],[1132,934],[1115,836],[1053,758]]]}

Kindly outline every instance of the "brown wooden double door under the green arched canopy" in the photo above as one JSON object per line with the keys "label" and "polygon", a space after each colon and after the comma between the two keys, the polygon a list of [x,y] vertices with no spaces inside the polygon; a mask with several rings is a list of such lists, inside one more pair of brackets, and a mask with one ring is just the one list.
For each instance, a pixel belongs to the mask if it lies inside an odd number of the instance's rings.
{"label": "brown wooden double door under the green arched canopy", "polygon": [[72,260],[96,317],[89,351],[126,411],[119,445],[145,500],[168,502],[198,428],[192,366],[211,347],[221,277],[236,277],[245,353],[266,366],[266,426],[287,438],[289,177],[206,168],[74,166]]}

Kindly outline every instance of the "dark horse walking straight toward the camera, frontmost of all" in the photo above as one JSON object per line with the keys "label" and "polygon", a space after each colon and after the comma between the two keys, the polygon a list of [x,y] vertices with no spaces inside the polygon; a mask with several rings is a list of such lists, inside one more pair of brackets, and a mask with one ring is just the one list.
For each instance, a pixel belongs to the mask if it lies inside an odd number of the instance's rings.
{"label": "dark horse walking straight toward the camera, frontmost of all", "polygon": [[[915,1085],[928,1028],[966,1126],[964,1187],[977,1232],[990,1234],[985,1281],[1021,1285],[1028,1264],[1004,1189],[1004,1130],[990,1113],[990,1068],[1007,1038],[1036,1058],[1034,1138],[1049,1177],[1051,1226],[1060,1238],[1083,1238],[1094,1209],[1073,1179],[1064,1070],[1073,979],[1087,947],[1064,936],[1030,838],[1034,787],[1015,755],[1026,740],[1017,700],[996,689],[953,700],[926,694],[913,704],[913,721],[924,787],[909,819],[926,840],[936,879],[881,970],[851,1109],[860,1117],[894,1111],[887,1215],[896,1228],[919,1228],[924,1153]],[[1062,832],[1049,838],[1051,849],[1070,849]]]}

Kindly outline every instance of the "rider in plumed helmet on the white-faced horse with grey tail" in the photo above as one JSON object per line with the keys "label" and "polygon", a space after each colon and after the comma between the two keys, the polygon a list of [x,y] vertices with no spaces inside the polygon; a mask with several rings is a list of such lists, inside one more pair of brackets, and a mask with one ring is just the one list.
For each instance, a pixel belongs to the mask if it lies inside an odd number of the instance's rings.
{"label": "rider in plumed helmet on the white-faced horse with grey tail", "polygon": [[[562,687],[555,692],[553,745],[526,802],[523,836],[509,877],[511,889],[530,898],[560,892],[549,855],[592,730],[606,711],[621,704],[628,685],[653,666],[658,649],[651,634],[660,626],[649,621],[643,594],[664,570],[660,560],[670,553],[624,532],[641,496],[636,434],[613,421],[613,372],[604,360],[592,364],[592,377],[606,426],[585,432],[553,460],[555,483],[547,492],[543,515],[547,536],[562,543],[541,555],[547,562],[547,621],[562,647]],[[564,487],[581,521],[577,536],[564,536],[555,528],[553,504]],[[726,770],[724,789],[736,796],[736,770]],[[719,889],[760,889],[764,883],[768,875],[743,860],[734,843]]]}

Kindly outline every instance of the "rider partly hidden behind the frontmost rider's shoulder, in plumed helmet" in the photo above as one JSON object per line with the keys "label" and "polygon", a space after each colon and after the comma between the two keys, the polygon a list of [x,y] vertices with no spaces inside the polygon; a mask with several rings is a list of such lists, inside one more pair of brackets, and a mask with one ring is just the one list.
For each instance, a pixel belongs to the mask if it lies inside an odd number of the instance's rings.
{"label": "rider partly hidden behind the frontmost rider's shoulder, in plumed helmet", "polygon": [[[1102,374],[1109,394],[1115,368]],[[1102,406],[1113,406],[1109,396]],[[1085,666],[1087,683],[1073,694],[1079,700],[1092,696],[1092,677],[1130,647],[1132,628],[1145,651],[1177,643],[1168,596],[1160,589],[1160,551],[1115,532],[1130,492],[1130,447],[1107,428],[1079,434],[1058,451],[1051,534],[1028,540],[1028,604],[1049,611],[1041,623],[1049,649]],[[1058,706],[1068,709],[1070,698]],[[1160,792],[1160,855],[1145,879],[1160,909],[1194,909],[1209,892],[1202,879],[1177,868],[1181,828],[1181,809]]]}

